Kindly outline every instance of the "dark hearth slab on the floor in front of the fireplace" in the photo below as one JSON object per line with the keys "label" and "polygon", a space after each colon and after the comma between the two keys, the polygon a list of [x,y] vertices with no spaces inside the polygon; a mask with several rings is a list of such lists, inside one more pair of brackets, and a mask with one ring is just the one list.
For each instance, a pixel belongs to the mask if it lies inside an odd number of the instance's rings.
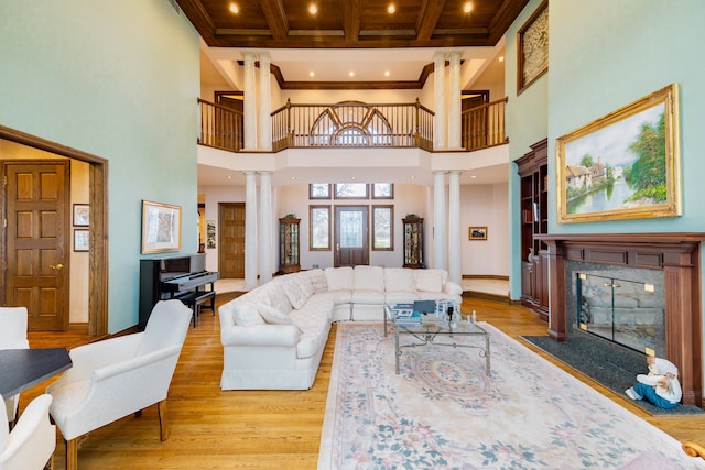
{"label": "dark hearth slab on the floor in front of the fireplace", "polygon": [[[579,336],[571,337],[565,342],[554,341],[547,336],[521,338],[620,395],[634,384],[637,374],[648,372],[644,354],[625,350],[607,341]],[[694,405],[679,405],[675,408],[663,409],[644,400],[632,403],[652,415],[705,413]]]}

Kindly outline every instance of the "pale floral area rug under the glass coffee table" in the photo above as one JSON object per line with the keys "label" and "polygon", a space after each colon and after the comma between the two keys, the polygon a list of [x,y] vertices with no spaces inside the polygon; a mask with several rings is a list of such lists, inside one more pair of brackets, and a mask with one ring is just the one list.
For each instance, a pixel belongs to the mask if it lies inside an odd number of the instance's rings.
{"label": "pale floral area rug under the glass coffee table", "polygon": [[[488,324],[475,349],[405,349],[338,324],[318,469],[705,468],[665,433]],[[459,338],[456,337],[458,341]],[[477,339],[467,339],[477,341]]]}

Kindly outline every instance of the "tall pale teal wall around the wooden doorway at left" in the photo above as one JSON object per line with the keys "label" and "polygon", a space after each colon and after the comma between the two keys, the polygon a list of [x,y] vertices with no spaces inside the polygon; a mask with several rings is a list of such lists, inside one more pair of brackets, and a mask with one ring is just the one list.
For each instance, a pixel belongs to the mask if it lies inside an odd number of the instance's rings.
{"label": "tall pale teal wall around the wooden doorway at left", "polygon": [[[110,332],[138,321],[142,199],[197,250],[198,35],[166,0],[0,0],[0,124],[107,159]],[[191,230],[193,228],[193,230]]]}

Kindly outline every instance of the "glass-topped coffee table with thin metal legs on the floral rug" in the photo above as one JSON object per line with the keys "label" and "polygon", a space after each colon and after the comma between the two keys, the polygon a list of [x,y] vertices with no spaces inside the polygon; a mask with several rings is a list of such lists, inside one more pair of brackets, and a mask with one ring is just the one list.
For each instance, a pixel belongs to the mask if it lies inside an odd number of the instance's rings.
{"label": "glass-topped coffee table with thin metal legs on the floral rug", "polygon": [[[434,314],[422,314],[420,324],[404,323],[403,320],[397,320],[397,313],[393,307],[386,306],[384,336],[387,336],[390,325],[394,332],[395,371],[398,374],[399,358],[404,348],[436,345],[479,350],[480,358],[485,358],[485,374],[490,376],[489,334],[479,325],[473,323],[469,317],[460,314],[458,321],[451,324],[445,315],[436,317]],[[458,341],[459,338],[466,339],[468,337],[479,341]],[[402,342],[403,338],[410,338],[411,341]]]}

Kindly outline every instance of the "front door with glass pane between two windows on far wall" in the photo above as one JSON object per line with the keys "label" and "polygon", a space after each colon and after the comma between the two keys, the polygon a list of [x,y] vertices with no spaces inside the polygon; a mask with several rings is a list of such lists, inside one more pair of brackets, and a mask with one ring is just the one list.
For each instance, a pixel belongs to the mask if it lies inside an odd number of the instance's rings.
{"label": "front door with glass pane between two windows on far wall", "polygon": [[370,263],[367,206],[336,206],[333,258],[335,267]]}

